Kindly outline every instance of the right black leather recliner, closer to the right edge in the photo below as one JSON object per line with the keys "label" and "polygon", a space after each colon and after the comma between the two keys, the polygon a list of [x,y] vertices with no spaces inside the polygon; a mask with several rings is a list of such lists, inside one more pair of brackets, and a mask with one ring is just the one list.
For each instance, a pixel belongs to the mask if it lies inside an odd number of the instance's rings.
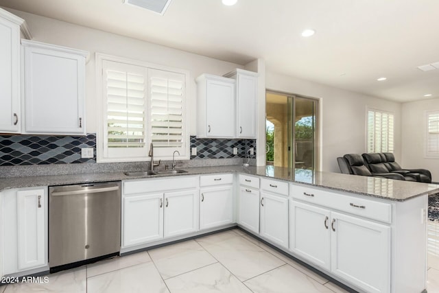
{"label": "right black leather recliner, closer to the right edge", "polygon": [[431,173],[427,169],[403,169],[395,162],[390,152],[362,154],[366,166],[371,172],[392,172],[401,174],[405,180],[431,183]]}

